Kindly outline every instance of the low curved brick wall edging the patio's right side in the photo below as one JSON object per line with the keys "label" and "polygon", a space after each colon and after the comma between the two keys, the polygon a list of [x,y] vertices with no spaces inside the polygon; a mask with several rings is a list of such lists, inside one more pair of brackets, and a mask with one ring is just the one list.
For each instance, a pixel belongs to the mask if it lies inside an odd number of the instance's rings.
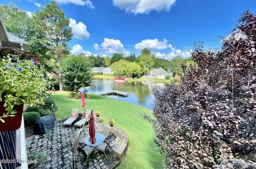
{"label": "low curved brick wall edging the patio's right side", "polygon": [[110,132],[118,136],[122,140],[122,144],[120,145],[120,148],[117,151],[115,151],[116,159],[120,160],[121,162],[126,156],[126,153],[128,150],[128,136],[124,131],[116,127],[111,127]]}

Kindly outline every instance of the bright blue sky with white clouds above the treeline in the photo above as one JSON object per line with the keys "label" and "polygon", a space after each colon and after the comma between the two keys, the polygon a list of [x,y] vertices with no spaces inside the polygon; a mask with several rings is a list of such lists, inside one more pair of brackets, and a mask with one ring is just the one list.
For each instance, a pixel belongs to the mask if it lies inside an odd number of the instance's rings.
{"label": "bright blue sky with white clouds above the treeline", "polygon": [[[242,12],[256,12],[254,0],[55,0],[70,19],[74,54],[136,56],[144,48],[159,58],[189,57],[195,41],[220,47]],[[31,15],[50,0],[12,2]]]}

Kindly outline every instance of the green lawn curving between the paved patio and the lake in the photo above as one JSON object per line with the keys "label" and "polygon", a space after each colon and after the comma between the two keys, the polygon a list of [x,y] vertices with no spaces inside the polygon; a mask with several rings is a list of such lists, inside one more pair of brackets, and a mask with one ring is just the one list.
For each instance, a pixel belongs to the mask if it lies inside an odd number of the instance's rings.
{"label": "green lawn curving between the paved patio and the lake", "polygon": [[[67,92],[52,94],[57,106],[56,118],[67,118],[72,108],[81,107],[80,99],[68,99]],[[141,114],[151,114],[151,110],[134,104],[122,102],[105,96],[88,93],[86,109],[100,110],[100,122],[108,124],[110,118],[115,119],[114,126],[124,130],[128,136],[129,151],[118,169],[159,169],[162,168],[162,156],[156,151],[153,129]]]}

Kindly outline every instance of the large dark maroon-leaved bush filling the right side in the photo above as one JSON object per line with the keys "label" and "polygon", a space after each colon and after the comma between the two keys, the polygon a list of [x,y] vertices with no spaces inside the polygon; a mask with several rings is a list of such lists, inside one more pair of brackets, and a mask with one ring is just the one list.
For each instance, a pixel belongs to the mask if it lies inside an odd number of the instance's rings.
{"label": "large dark maroon-leaved bush filling the right side", "polygon": [[256,168],[256,16],[242,14],[222,47],[195,43],[197,67],[155,88],[155,142],[166,168]]}

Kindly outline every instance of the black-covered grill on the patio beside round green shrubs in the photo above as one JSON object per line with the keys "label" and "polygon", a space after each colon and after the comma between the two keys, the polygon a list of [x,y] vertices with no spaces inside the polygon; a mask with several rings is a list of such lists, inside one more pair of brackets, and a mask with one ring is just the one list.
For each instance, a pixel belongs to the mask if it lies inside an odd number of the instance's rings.
{"label": "black-covered grill on the patio beside round green shrubs", "polygon": [[47,134],[52,128],[54,128],[53,116],[43,116],[34,122],[34,134]]}

